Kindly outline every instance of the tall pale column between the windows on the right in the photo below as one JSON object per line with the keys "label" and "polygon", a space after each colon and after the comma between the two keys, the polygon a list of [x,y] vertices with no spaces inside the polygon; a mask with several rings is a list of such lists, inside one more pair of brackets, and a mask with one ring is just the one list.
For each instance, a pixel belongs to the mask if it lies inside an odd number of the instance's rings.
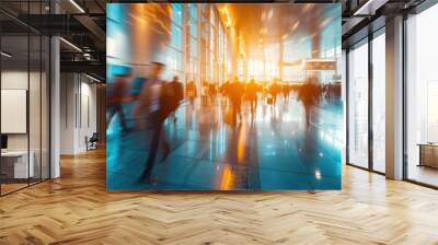
{"label": "tall pale column between the windows on the right", "polygon": [[387,22],[387,177],[403,178],[403,16]]}

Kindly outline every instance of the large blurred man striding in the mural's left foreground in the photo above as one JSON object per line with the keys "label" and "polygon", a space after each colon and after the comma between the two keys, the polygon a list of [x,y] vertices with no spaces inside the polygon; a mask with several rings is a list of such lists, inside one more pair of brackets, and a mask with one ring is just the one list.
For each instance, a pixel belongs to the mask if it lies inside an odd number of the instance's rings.
{"label": "large blurred man striding in the mural's left foreground", "polygon": [[[164,70],[164,65],[160,62],[151,63],[151,74],[148,81],[141,89],[141,94],[137,106],[134,109],[135,117],[139,118],[143,113],[147,114],[148,126],[151,130],[150,145],[147,149],[149,151],[148,159],[146,161],[146,168],[139,180],[148,180],[152,173],[153,164],[159,150],[160,139],[164,151],[165,159],[170,152],[170,145],[162,132],[162,126],[164,119],[172,112],[169,103],[169,93],[166,85],[160,80],[160,74]],[[160,138],[161,136],[161,138]]]}

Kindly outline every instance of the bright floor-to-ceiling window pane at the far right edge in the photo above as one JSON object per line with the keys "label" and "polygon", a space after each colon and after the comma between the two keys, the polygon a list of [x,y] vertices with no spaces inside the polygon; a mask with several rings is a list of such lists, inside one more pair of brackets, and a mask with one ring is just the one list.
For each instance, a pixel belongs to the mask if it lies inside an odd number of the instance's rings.
{"label": "bright floor-to-ceiling window pane at the far right edge", "polygon": [[438,4],[406,21],[406,177],[438,186]]}

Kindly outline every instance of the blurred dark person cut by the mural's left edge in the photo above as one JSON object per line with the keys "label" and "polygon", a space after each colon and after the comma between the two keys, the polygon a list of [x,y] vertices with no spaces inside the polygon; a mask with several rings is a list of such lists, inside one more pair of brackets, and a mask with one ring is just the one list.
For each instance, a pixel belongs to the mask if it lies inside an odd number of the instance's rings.
{"label": "blurred dark person cut by the mural's left edge", "polygon": [[128,79],[130,73],[116,74],[114,82],[108,84],[108,93],[106,98],[106,128],[108,127],[114,115],[117,114],[120,121],[122,130],[126,131],[125,113],[123,110],[123,102],[128,90]]}

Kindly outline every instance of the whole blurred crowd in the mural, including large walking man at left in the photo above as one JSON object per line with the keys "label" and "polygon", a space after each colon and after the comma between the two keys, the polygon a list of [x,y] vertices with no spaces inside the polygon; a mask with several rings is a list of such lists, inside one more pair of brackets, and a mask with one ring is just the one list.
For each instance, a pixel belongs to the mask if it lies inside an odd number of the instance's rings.
{"label": "whole blurred crowd in the mural, including large walking man at left", "polygon": [[[197,98],[200,98],[201,103],[211,105],[219,97],[228,107],[224,119],[232,125],[238,125],[243,120],[244,103],[247,103],[250,107],[253,121],[258,103],[270,106],[274,110],[278,98],[288,102],[293,94],[293,97],[303,105],[306,124],[309,126],[312,110],[321,100],[341,97],[339,85],[320,84],[315,77],[308,78],[303,83],[285,83],[279,80],[257,82],[254,79],[240,81],[239,78],[220,85],[204,81],[198,91],[194,81],[187,81],[184,88],[177,77],[174,77],[172,81],[162,80],[164,69],[165,65],[152,62],[146,78],[135,78],[127,69],[125,72],[114,74],[107,88],[107,125],[117,115],[122,132],[129,132],[135,128],[150,130],[148,149],[146,149],[148,156],[139,182],[152,180],[150,179],[151,172],[160,148],[163,152],[161,161],[168,158],[171,145],[163,130],[163,124],[166,119],[176,122],[175,112],[184,100],[188,105],[194,106]],[[132,115],[126,115],[123,106],[126,102],[135,102]],[[127,116],[134,118],[135,127],[128,127]]]}

